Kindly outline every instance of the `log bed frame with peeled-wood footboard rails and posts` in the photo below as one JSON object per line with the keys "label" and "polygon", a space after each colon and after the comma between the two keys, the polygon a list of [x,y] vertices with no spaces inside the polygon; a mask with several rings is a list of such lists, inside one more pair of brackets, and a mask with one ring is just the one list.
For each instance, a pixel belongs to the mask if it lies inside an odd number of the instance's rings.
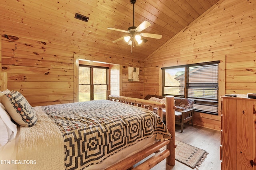
{"label": "log bed frame with peeled-wood footboard rails and posts", "polygon": [[[7,89],[7,72],[0,72],[0,90]],[[149,170],[154,167],[156,164],[161,162],[166,158],[166,163],[170,166],[175,165],[175,106],[174,106],[174,96],[166,96],[166,104],[160,102],[154,102],[138,98],[129,98],[124,96],[113,96],[109,95],[110,91],[107,91],[106,98],[108,100],[122,102],[126,104],[131,104],[134,106],[140,106],[145,108],[148,106],[148,109],[153,110],[153,107],[158,108],[158,115],[162,118],[162,109],[166,109],[166,127],[168,131],[172,134],[172,139],[168,141],[158,141],[154,145],[149,146],[148,148],[137,152],[136,154],[114,164],[113,166],[108,167],[106,170],[127,170],[134,166],[134,164],[140,162],[144,158],[148,157],[152,153],[154,156],[148,158],[142,164],[139,164],[133,170]],[[159,151],[162,147],[166,146],[165,150]]]}

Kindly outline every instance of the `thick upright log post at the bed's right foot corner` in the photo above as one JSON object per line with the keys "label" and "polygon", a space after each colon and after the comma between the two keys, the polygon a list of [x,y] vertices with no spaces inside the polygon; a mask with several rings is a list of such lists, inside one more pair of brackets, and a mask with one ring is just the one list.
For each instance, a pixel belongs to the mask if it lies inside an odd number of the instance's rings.
{"label": "thick upright log post at the bed's right foot corner", "polygon": [[166,158],[166,163],[170,166],[175,165],[175,106],[174,96],[166,96],[166,127],[172,134],[172,139],[167,145],[167,149],[170,150],[170,156]]}

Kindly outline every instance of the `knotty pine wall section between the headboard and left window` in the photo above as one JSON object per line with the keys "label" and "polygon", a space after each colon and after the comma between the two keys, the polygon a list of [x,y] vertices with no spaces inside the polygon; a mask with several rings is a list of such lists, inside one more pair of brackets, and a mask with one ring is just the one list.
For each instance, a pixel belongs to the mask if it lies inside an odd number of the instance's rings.
{"label": "knotty pine wall section between the headboard and left window", "polygon": [[73,52],[58,45],[2,35],[2,71],[8,89],[20,91],[32,106],[73,102]]}

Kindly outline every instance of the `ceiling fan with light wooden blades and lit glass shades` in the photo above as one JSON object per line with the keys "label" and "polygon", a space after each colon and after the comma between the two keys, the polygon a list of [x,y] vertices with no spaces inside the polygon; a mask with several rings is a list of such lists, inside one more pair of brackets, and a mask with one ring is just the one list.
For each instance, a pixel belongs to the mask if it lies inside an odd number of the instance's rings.
{"label": "ceiling fan with light wooden blades and lit glass shades", "polygon": [[[140,46],[142,42],[146,42],[148,41],[147,39],[144,39],[142,37],[149,37],[149,38],[156,38],[156,39],[160,39],[162,38],[162,35],[159,34],[152,34],[152,33],[141,33],[140,31],[143,31],[144,29],[146,29],[147,27],[149,27],[151,25],[150,22],[148,21],[143,21],[138,27],[134,26],[134,4],[136,2],[136,0],[130,0],[131,4],[133,4],[133,26],[129,27],[128,30],[122,30],[122,29],[116,29],[116,28],[112,28],[112,27],[108,27],[108,29],[110,30],[114,30],[114,31],[120,31],[120,32],[124,32],[124,33],[128,33],[129,35],[127,36],[123,36],[120,37],[114,41],[112,41],[112,43],[116,43],[122,39],[124,39],[124,41],[126,41],[126,43],[128,45],[132,47],[134,47],[134,44],[136,46]],[[131,50],[132,53],[132,50]]]}

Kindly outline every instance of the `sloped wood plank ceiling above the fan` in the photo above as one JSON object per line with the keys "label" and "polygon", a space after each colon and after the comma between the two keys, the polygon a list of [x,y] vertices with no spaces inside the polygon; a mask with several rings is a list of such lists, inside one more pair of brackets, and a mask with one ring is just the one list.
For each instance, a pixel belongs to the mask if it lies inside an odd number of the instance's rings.
{"label": "sloped wood plank ceiling above the fan", "polygon": [[[55,43],[106,53],[145,59],[219,0],[137,0],[134,26],[144,20],[152,25],[142,32],[161,34],[161,39],[146,38],[140,47],[124,41],[112,43],[133,26],[130,0],[5,0],[0,1],[0,33],[24,35],[37,41]],[[88,22],[74,18],[88,16]]]}

